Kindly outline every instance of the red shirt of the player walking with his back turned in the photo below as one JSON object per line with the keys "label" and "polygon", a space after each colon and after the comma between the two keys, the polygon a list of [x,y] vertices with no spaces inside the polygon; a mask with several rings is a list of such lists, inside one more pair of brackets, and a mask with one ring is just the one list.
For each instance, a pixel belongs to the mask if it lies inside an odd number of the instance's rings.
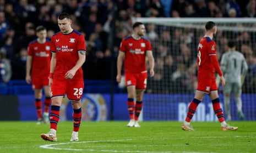
{"label": "red shirt of the player walking with his back turned", "polygon": [[215,78],[215,67],[219,67],[217,69],[219,74],[222,73],[219,62],[217,60],[211,61],[211,56],[216,58],[216,43],[210,37],[203,37],[198,44],[197,64],[199,66],[199,78]]}

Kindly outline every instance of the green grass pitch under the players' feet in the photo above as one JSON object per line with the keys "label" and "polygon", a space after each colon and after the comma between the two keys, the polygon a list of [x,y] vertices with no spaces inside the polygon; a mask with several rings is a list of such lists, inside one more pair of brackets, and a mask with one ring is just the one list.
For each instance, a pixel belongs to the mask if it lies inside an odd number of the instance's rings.
{"label": "green grass pitch under the players' feet", "polygon": [[44,141],[49,124],[0,122],[0,152],[256,152],[256,122],[228,122],[238,131],[221,131],[219,122],[192,122],[195,131],[182,131],[181,122],[82,122],[79,141],[70,142],[73,123],[59,122],[58,141]]}

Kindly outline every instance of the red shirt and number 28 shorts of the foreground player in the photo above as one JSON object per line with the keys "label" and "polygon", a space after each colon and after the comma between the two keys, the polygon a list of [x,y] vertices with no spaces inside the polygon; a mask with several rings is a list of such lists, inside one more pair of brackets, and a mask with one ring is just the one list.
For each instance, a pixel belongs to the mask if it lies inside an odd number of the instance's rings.
{"label": "red shirt and number 28 shorts of the foreground player", "polygon": [[65,79],[65,74],[77,64],[78,52],[86,52],[84,35],[75,30],[68,34],[56,33],[52,36],[51,52],[56,53],[52,97],[67,93],[68,99],[79,101],[84,89],[83,70],[80,67],[70,80]]}

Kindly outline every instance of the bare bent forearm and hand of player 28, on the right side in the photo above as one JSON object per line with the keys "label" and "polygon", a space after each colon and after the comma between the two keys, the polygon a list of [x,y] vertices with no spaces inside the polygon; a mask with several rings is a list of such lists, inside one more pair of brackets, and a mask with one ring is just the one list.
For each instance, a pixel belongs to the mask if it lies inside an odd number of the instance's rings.
{"label": "bare bent forearm and hand of player 28, on the right side", "polygon": [[77,72],[77,70],[80,69],[80,67],[85,63],[86,52],[84,50],[79,51],[78,56],[79,56],[79,59],[78,59],[77,63],[75,64],[75,66],[72,67],[71,70],[66,72],[66,74],[65,74],[66,79],[72,79],[75,75],[75,72]]}

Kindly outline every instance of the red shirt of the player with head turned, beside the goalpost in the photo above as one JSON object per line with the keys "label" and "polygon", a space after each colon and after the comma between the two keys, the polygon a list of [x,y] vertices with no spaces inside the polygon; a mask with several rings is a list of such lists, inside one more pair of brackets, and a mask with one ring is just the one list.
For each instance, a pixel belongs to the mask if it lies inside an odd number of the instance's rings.
{"label": "red shirt of the player with head turned, beside the goalpost", "polygon": [[146,51],[152,50],[150,41],[132,36],[122,39],[119,50],[125,53],[124,72],[140,73],[146,71]]}

